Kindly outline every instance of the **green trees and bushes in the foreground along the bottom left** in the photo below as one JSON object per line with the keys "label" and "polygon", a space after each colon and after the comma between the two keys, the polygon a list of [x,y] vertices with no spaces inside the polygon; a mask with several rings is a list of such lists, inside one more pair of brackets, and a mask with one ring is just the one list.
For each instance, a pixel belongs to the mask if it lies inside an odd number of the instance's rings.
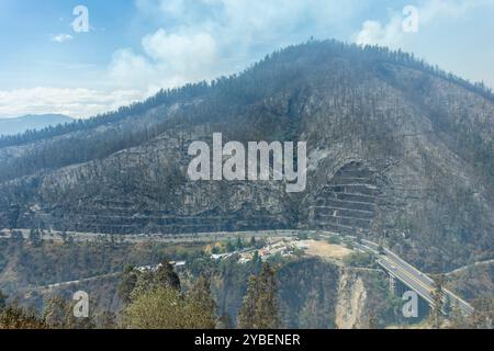
{"label": "green trees and bushes in the foreground along the bottom left", "polygon": [[[53,296],[42,315],[16,302],[7,304],[0,294],[0,329],[215,329],[231,328],[226,316],[217,316],[207,275],[200,275],[189,291],[173,267],[164,261],[156,271],[127,267],[119,294],[124,307],[117,313],[97,312],[88,318],[74,317],[74,304]],[[280,328],[278,288],[274,270],[265,263],[249,280],[238,315],[238,326],[246,329]]]}

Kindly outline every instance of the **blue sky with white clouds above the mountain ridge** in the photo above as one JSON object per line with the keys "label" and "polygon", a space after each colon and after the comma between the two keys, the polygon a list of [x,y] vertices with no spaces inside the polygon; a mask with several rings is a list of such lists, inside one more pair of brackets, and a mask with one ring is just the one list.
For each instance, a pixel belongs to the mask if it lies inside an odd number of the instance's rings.
{"label": "blue sky with white clouds above the mountain ridge", "polygon": [[87,118],[311,37],[401,48],[494,88],[493,19],[494,0],[0,0],[0,117]]}

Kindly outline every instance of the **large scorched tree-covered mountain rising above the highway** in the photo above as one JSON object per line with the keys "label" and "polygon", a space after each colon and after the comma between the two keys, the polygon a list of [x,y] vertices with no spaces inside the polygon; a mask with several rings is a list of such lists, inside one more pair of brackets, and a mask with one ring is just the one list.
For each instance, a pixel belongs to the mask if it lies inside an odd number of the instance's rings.
{"label": "large scorched tree-covered mountain rising above the highway", "polygon": [[[306,141],[307,188],[191,182],[194,140]],[[0,138],[0,227],[314,228],[428,272],[494,257],[494,95],[402,52],[308,42],[246,71]]]}

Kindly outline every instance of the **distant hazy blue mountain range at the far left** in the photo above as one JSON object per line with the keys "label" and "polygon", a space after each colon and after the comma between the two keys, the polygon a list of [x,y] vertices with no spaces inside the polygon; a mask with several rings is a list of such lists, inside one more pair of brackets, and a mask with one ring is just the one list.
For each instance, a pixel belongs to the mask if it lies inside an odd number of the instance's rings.
{"label": "distant hazy blue mountain range at the far left", "polygon": [[70,123],[74,120],[63,114],[25,115],[14,118],[0,118],[0,135],[14,135],[27,129],[43,129],[47,126]]}

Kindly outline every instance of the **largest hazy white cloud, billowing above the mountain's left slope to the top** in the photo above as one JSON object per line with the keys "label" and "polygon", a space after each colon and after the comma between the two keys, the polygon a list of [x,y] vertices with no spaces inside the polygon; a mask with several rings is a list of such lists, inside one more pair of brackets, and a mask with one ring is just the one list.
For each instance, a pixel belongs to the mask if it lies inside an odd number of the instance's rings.
{"label": "largest hazy white cloud, billowing above the mountain's left slope to the top", "polygon": [[335,25],[357,4],[360,1],[136,0],[142,15],[160,29],[142,38],[138,52],[115,52],[109,71],[119,87],[146,92],[211,80],[288,44],[333,36]]}

